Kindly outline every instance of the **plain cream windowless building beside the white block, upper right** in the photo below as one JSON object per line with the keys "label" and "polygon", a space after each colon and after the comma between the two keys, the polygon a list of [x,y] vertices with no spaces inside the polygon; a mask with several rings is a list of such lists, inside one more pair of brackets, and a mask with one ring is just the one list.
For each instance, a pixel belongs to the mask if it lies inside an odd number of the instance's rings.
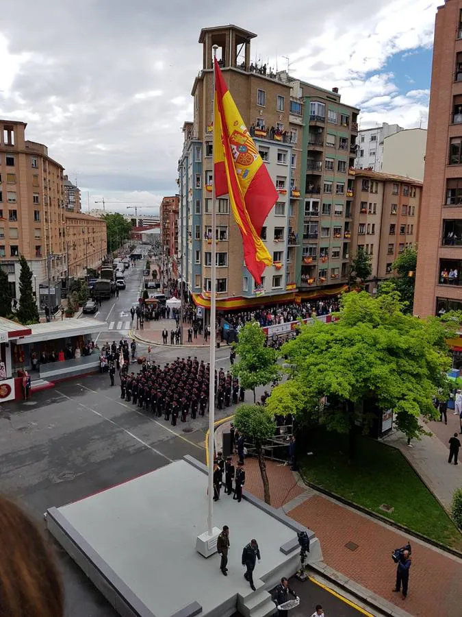
{"label": "plain cream windowless building beside the white block, upper right", "polygon": [[384,173],[424,180],[426,129],[405,129],[385,137],[383,141]]}

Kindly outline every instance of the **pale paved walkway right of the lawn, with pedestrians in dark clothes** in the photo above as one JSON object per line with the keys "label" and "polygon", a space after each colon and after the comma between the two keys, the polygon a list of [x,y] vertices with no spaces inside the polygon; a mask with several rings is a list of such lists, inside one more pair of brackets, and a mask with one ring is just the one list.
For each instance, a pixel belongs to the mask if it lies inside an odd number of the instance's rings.
{"label": "pale paved walkway right of the lawn, with pedestrians in dark clothes", "polygon": [[423,424],[426,431],[433,435],[422,436],[420,441],[414,439],[412,448],[407,446],[405,435],[393,431],[383,439],[385,443],[398,448],[420,475],[428,489],[437,497],[441,505],[450,511],[452,494],[462,487],[462,465],[449,465],[448,440],[454,433],[459,433],[460,423],[456,415],[448,409],[448,424],[428,422]]}

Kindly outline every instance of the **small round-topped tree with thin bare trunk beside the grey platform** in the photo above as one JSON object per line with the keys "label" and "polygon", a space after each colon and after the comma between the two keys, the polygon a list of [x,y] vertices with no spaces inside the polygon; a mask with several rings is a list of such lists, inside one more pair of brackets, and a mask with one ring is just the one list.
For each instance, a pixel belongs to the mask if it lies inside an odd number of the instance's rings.
{"label": "small round-topped tree with thin bare trunk beside the grey platform", "polygon": [[260,468],[261,481],[265,503],[271,505],[270,483],[266,473],[266,463],[263,455],[263,446],[268,439],[276,433],[276,423],[266,407],[262,405],[242,404],[238,409],[233,420],[235,428],[253,441],[257,452],[258,466]]}

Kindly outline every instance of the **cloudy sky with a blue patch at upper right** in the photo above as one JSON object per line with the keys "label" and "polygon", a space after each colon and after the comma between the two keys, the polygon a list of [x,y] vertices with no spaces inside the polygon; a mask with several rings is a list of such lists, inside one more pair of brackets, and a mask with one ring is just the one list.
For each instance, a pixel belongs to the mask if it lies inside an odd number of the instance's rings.
{"label": "cloudy sky with a blue patch at upper right", "polygon": [[[441,0],[15,0],[0,21],[0,117],[26,121],[90,207],[175,193],[201,27],[258,35],[252,57],[359,106],[361,127],[426,127]],[[123,211],[128,204],[107,204]],[[125,210],[126,211],[126,210]],[[153,210],[140,210],[145,214]]]}

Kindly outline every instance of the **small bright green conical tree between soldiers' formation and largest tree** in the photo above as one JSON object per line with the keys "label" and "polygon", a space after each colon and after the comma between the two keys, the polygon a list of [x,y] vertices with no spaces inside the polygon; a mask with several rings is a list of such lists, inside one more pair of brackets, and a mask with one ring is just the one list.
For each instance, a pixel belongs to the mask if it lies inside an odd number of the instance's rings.
{"label": "small bright green conical tree between soldiers' formation and largest tree", "polygon": [[266,335],[257,322],[246,324],[239,332],[236,345],[239,361],[231,367],[231,374],[239,378],[240,385],[253,391],[253,402],[255,388],[270,383],[279,375],[277,352],[264,346],[265,339]]}

